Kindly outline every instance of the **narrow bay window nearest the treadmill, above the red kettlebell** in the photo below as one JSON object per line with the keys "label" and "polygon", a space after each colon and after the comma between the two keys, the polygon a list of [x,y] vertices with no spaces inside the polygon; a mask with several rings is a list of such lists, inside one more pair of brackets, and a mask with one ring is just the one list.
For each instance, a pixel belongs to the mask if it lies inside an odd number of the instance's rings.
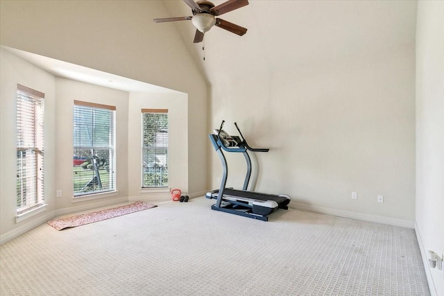
{"label": "narrow bay window nearest the treadmill, above the red kettlebell", "polygon": [[168,110],[142,109],[142,187],[168,186]]}

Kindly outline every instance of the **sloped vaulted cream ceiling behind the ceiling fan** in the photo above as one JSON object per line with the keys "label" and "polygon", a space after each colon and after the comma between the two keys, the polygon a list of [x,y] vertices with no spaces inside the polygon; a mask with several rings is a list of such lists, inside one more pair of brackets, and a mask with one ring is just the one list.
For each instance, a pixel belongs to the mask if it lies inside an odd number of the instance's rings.
{"label": "sloped vaulted cream ceiling behind the ceiling fan", "polygon": [[[191,15],[181,0],[163,1],[169,15]],[[216,6],[224,1],[212,1]],[[155,24],[176,26],[206,78],[257,71],[279,71],[343,58],[365,58],[403,44],[414,44],[416,1],[250,0],[248,6],[221,15],[248,28],[239,37],[218,27],[194,44],[191,21]]]}

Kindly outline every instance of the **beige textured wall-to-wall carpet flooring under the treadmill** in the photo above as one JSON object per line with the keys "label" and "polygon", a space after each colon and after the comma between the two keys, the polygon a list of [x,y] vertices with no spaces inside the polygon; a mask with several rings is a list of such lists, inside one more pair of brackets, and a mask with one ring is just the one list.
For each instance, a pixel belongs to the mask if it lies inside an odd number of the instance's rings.
{"label": "beige textured wall-to-wall carpet flooring under the treadmill", "polygon": [[1,295],[429,295],[413,229],[279,210],[268,222],[160,203],[0,247]]}

